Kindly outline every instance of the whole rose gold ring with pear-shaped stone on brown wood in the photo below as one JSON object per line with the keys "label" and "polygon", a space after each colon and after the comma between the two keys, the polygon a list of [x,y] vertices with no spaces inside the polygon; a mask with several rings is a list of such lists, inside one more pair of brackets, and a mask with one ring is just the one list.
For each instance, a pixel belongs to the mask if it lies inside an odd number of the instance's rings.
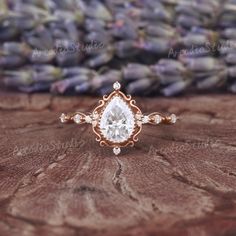
{"label": "whole rose gold ring with pear-shaped stone on brown wood", "polygon": [[136,101],[131,95],[120,91],[119,82],[114,83],[114,91],[104,95],[99,105],[92,113],[74,112],[62,113],[62,123],[91,124],[100,146],[113,148],[115,155],[119,155],[122,147],[131,146],[138,141],[138,135],[144,124],[171,125],[176,123],[177,116],[163,116],[158,112],[144,115],[136,106]]}

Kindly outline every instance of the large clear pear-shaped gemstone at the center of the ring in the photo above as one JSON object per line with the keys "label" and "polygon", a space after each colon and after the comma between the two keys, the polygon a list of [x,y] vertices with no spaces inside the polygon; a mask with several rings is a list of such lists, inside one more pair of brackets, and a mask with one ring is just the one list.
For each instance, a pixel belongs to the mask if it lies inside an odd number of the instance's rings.
{"label": "large clear pear-shaped gemstone at the center of the ring", "polygon": [[131,137],[134,127],[134,115],[128,104],[119,96],[112,98],[101,115],[102,135],[108,141],[122,143]]}

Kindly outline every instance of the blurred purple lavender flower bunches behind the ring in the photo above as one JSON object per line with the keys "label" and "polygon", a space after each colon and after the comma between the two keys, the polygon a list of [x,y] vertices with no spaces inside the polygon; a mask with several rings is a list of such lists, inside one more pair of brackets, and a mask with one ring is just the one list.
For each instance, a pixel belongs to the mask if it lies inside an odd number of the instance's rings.
{"label": "blurred purple lavender flower bunches behind the ring", "polygon": [[236,0],[1,0],[0,85],[236,93]]}

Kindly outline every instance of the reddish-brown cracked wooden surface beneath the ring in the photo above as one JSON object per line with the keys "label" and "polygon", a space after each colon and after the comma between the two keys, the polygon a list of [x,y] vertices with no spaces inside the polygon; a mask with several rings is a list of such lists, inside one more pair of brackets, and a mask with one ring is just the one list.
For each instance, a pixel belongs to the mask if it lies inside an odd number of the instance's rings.
{"label": "reddish-brown cracked wooden surface beneath the ring", "polygon": [[137,99],[177,113],[114,157],[62,111],[97,99],[0,94],[0,235],[235,236],[236,100]]}

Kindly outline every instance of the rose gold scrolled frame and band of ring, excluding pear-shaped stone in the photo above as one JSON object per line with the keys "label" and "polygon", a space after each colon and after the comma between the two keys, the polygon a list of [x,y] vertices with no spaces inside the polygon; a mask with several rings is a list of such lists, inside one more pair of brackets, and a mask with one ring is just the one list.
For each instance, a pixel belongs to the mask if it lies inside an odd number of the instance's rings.
{"label": "rose gold scrolled frame and band of ring, excluding pear-shaped stone", "polygon": [[[96,135],[96,141],[100,143],[100,146],[112,147],[115,155],[120,154],[122,147],[133,147],[138,142],[138,135],[142,131],[143,124],[159,125],[159,124],[174,124],[177,121],[176,115],[163,116],[158,112],[153,112],[149,115],[143,115],[139,107],[136,106],[136,101],[132,99],[131,95],[125,95],[120,91],[120,83],[116,82],[113,85],[114,91],[109,95],[104,95],[102,100],[99,100],[99,105],[95,107],[92,113],[85,114],[82,112],[74,112],[71,114],[62,113],[60,120],[62,123],[76,123],[76,124],[92,124],[93,132]],[[124,142],[112,142],[108,140],[102,134],[100,130],[100,121],[107,105],[112,99],[118,96],[120,97],[129,107],[134,117],[134,129],[130,137]]]}

